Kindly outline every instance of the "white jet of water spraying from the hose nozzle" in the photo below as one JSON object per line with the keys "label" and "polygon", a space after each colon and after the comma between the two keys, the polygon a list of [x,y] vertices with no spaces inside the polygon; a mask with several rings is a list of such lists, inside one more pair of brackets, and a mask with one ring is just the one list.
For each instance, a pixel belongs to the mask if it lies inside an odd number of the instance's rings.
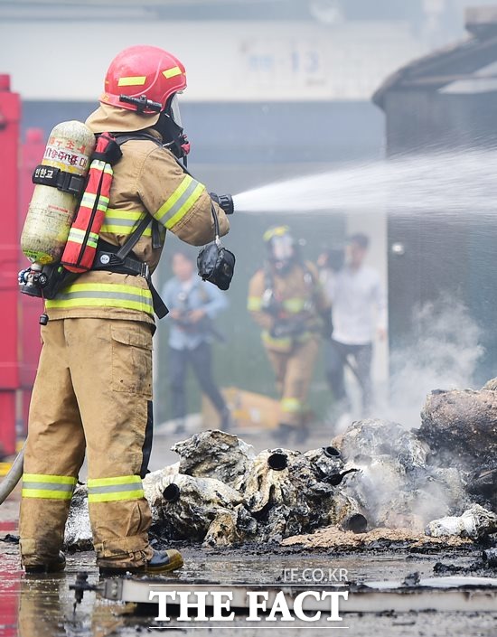
{"label": "white jet of water spraying from the hose nozzle", "polygon": [[[392,214],[440,211],[494,216],[497,198],[497,153],[464,150],[349,165],[240,192],[233,197],[237,212],[291,214],[333,211],[378,211]],[[443,212],[442,212],[443,211]]]}

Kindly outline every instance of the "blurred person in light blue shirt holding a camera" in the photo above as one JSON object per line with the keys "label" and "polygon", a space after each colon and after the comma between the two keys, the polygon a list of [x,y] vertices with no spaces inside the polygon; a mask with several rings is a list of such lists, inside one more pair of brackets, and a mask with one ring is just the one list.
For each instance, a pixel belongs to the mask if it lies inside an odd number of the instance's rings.
{"label": "blurred person in light blue shirt holding a camera", "polygon": [[211,369],[212,339],[224,341],[213,319],[228,307],[220,290],[202,281],[195,272],[194,259],[177,251],[172,258],[173,278],[163,290],[164,302],[172,320],[169,333],[168,370],[175,434],[185,431],[185,380],[191,365],[202,392],[220,415],[220,429],[230,429],[230,410],[220,393]]}

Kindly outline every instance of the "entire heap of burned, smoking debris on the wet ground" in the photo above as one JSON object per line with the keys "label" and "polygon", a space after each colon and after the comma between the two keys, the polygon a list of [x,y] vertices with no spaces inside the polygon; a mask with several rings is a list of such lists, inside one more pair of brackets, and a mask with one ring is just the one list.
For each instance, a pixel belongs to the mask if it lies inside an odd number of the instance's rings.
{"label": "entire heap of burned, smoking debris on the wet ground", "polygon": [[[433,392],[421,417],[417,430],[357,421],[331,445],[305,453],[257,454],[220,430],[195,434],[173,445],[179,462],[143,481],[152,530],[216,547],[279,544],[322,529],[496,533],[497,390]],[[69,546],[88,548],[91,538],[85,491],[71,504]]]}

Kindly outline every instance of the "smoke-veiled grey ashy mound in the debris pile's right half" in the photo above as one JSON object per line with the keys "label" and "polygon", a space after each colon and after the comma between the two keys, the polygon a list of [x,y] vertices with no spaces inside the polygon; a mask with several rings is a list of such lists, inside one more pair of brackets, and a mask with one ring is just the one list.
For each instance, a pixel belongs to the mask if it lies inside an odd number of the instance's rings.
{"label": "smoke-veiled grey ashy mound in the debris pile's right half", "polygon": [[385,420],[352,423],[334,444],[357,471],[342,491],[359,502],[370,528],[418,532],[430,520],[449,515],[464,502],[464,484],[450,465],[431,464],[427,443],[414,431]]}

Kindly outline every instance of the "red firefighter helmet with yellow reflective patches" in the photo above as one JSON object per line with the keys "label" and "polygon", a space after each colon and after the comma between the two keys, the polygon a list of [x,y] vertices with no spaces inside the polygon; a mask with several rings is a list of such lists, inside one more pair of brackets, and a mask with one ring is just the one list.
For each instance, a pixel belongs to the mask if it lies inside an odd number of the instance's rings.
{"label": "red firefighter helmet with yellow reflective patches", "polygon": [[140,113],[152,114],[157,108],[144,108],[120,100],[145,98],[165,108],[174,93],[186,87],[186,74],[181,61],[156,46],[130,46],[110,62],[100,101]]}

